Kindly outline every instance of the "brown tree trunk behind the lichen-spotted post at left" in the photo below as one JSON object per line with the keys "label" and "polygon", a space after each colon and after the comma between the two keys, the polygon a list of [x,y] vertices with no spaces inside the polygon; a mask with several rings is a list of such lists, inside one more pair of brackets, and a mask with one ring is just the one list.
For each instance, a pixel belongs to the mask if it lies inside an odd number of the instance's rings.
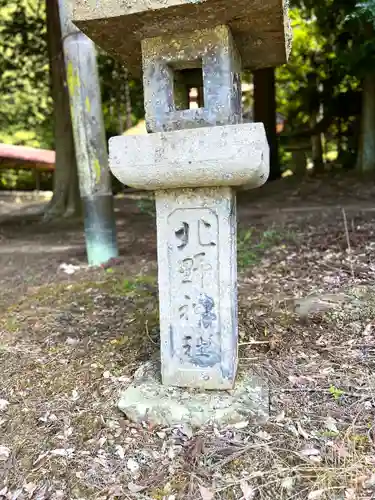
{"label": "brown tree trunk behind the lichen-spotted post at left", "polygon": [[56,151],[53,197],[44,214],[48,220],[79,214],[81,201],[57,0],[47,0],[46,9]]}

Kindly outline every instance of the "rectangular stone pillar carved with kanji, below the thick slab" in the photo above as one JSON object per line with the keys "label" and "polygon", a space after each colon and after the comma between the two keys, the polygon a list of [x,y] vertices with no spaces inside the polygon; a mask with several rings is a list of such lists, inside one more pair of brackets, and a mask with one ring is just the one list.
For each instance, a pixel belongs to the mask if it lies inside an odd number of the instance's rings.
{"label": "rectangular stone pillar carved with kanji, below the thick slab", "polygon": [[237,369],[236,204],[230,188],[157,191],[162,379],[231,389]]}

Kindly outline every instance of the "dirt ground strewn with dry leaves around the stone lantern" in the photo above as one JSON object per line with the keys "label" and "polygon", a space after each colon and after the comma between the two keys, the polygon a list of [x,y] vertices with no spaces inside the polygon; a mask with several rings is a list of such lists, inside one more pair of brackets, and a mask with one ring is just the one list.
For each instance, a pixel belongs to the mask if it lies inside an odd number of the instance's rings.
{"label": "dirt ground strewn with dry leaves around the stone lantern", "polygon": [[375,185],[284,179],[239,195],[240,372],[260,426],[152,428],[119,392],[158,355],[152,200],[116,200],[121,257],[0,196],[0,499],[375,499]]}

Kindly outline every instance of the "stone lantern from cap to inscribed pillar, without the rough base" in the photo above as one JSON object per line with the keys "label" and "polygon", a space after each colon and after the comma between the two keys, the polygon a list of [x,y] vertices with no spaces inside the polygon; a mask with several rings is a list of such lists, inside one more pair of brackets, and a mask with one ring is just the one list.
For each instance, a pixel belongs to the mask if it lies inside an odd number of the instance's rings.
{"label": "stone lantern from cap to inscribed pillar, without the rough base", "polygon": [[[143,75],[146,136],[110,140],[110,168],[155,192],[164,386],[230,390],[237,370],[236,189],[268,177],[241,71],[287,59],[282,0],[76,0],[74,22]],[[189,109],[189,90],[202,106]]]}

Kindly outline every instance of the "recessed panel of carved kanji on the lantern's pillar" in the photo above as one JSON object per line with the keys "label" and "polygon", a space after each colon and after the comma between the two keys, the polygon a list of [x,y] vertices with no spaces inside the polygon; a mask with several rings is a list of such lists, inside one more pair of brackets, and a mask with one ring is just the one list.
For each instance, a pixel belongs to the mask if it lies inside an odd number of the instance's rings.
{"label": "recessed panel of carved kanji on the lantern's pillar", "polygon": [[182,364],[220,363],[218,219],[210,209],[168,217],[173,356]]}

